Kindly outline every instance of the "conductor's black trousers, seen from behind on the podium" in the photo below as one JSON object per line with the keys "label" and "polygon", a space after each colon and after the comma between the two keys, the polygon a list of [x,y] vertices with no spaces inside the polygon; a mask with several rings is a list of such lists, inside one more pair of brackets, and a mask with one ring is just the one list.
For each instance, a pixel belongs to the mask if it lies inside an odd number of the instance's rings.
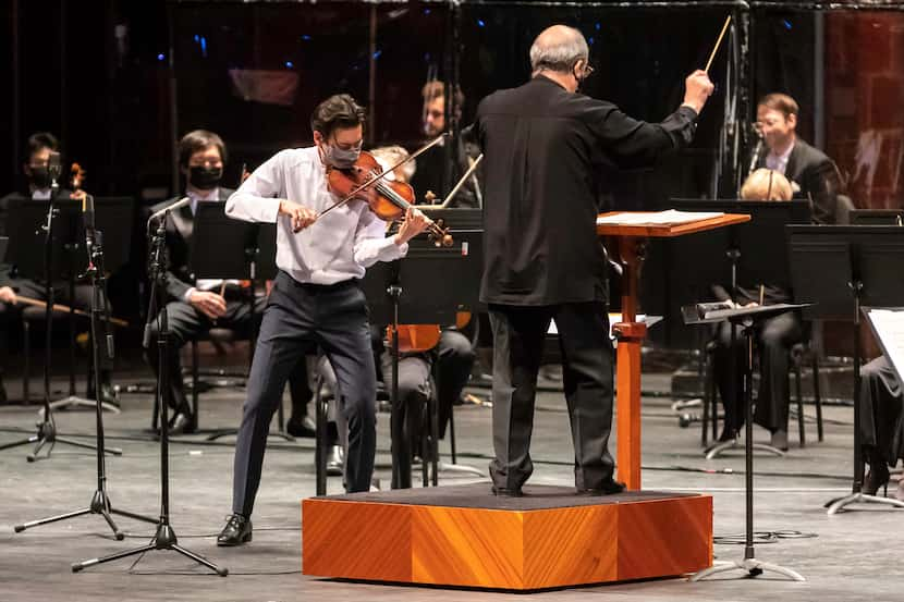
{"label": "conductor's black trousers, seen from behind on the podium", "polygon": [[602,302],[543,307],[489,306],[493,332],[490,477],[500,489],[517,490],[530,477],[530,434],[537,372],[549,322],[555,320],[562,378],[574,443],[577,489],[596,489],[612,478],[613,349]]}

